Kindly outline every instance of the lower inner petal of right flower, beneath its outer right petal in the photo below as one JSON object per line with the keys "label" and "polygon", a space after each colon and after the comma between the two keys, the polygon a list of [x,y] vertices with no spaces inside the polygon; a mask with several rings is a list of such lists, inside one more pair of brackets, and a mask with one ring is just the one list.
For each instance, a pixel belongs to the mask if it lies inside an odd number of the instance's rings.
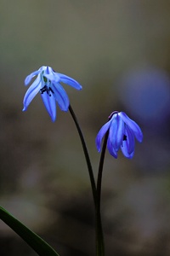
{"label": "lower inner petal of right flower, beneath its outer right petal", "polygon": [[133,131],[128,126],[126,126],[125,135],[127,136],[127,139],[122,142],[122,154],[124,154],[127,158],[132,158],[134,154],[135,142]]}

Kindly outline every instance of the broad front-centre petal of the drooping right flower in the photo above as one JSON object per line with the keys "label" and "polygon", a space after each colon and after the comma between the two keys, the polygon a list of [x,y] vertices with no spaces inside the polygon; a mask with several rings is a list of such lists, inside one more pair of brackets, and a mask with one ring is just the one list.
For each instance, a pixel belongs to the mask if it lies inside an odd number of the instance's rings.
{"label": "broad front-centre petal of the drooping right flower", "polygon": [[111,119],[111,128],[109,131],[109,137],[113,148],[118,151],[122,145],[122,138],[124,134],[124,122],[122,118],[114,113]]}

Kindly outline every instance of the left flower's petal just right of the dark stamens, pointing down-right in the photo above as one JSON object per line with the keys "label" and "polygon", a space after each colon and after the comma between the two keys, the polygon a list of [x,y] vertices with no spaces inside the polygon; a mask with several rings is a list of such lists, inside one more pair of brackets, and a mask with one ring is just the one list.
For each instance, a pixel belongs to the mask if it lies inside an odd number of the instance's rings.
{"label": "left flower's petal just right of the dark stamens, pointing down-right", "polygon": [[69,108],[69,97],[67,96],[64,88],[59,83],[51,84],[52,90],[54,90],[54,98],[59,104],[59,108],[63,111],[67,111]]}

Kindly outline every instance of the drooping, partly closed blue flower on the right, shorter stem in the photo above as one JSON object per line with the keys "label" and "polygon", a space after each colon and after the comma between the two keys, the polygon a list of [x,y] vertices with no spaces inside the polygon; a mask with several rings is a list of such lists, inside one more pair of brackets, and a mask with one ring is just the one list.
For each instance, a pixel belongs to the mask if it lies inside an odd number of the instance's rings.
{"label": "drooping, partly closed blue flower on the right, shorter stem", "polygon": [[124,112],[113,112],[109,121],[102,126],[96,137],[96,147],[101,150],[101,142],[106,132],[109,132],[107,139],[107,148],[112,156],[117,158],[117,152],[121,148],[122,154],[127,158],[133,158],[134,138],[139,141],[143,140],[142,131],[132,119]]}

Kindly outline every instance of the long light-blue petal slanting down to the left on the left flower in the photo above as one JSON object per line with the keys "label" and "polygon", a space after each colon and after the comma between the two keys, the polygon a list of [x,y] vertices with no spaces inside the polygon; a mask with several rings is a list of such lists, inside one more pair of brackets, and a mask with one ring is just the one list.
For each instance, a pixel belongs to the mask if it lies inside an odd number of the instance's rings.
{"label": "long light-blue petal slanting down to the left on the left flower", "polygon": [[41,89],[41,77],[37,76],[37,79],[31,84],[29,89],[26,91],[26,95],[24,97],[24,108],[22,111],[26,111],[28,105],[31,103],[32,99],[37,95],[38,91]]}

